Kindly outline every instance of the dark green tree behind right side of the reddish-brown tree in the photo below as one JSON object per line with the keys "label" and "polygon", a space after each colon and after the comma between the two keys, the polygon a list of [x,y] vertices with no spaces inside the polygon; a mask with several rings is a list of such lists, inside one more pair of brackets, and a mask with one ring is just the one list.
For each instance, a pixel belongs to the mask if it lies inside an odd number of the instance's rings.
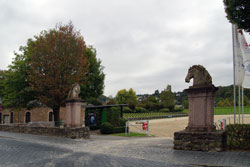
{"label": "dark green tree behind right side of the reddish-brown tree", "polygon": [[81,85],[80,97],[91,103],[103,94],[105,74],[101,60],[97,59],[96,49],[93,46],[87,47],[85,55],[89,64],[89,70],[86,74],[88,80]]}

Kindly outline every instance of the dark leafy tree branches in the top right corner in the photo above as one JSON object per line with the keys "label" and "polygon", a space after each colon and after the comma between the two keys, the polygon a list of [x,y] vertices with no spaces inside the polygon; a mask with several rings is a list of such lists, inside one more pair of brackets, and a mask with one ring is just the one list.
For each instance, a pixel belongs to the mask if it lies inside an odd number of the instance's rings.
{"label": "dark leafy tree branches in the top right corner", "polygon": [[238,28],[250,32],[250,1],[223,0],[228,20]]}

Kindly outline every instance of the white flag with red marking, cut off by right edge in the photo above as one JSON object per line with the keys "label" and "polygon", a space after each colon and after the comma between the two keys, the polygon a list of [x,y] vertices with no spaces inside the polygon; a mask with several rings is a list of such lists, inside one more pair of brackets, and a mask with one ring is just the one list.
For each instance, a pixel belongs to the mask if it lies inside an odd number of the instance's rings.
{"label": "white flag with red marking, cut off by right edge", "polygon": [[241,30],[238,30],[238,39],[240,42],[240,49],[243,56],[243,64],[245,70],[243,86],[245,88],[250,88],[250,48]]}

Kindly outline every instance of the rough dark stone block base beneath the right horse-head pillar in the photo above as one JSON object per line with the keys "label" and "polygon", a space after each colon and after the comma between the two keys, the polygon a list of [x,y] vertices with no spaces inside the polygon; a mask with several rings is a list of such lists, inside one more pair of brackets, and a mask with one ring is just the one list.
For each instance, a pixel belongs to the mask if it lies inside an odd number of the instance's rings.
{"label": "rough dark stone block base beneath the right horse-head pillar", "polygon": [[174,149],[195,151],[223,151],[226,148],[225,131],[174,133]]}

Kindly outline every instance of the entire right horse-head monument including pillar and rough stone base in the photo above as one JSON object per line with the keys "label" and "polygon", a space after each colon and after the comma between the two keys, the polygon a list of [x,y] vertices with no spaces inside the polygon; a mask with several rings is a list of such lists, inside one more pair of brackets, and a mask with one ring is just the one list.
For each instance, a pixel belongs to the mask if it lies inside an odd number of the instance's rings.
{"label": "entire right horse-head monument including pillar and rough stone base", "polygon": [[185,89],[188,93],[188,126],[174,133],[174,148],[180,150],[221,151],[224,150],[225,132],[216,131],[214,125],[214,95],[218,90],[212,84],[212,77],[201,65],[189,68],[185,78],[193,86]]}

